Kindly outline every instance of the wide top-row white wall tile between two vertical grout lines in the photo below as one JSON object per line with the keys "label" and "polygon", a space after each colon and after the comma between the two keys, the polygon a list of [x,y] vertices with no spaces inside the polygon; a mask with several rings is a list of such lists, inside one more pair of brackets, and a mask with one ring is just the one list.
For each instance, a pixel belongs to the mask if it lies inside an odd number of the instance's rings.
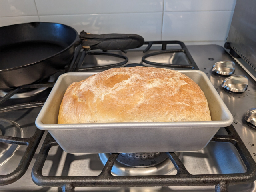
{"label": "wide top-row white wall tile between two vertical grout lines", "polygon": [[164,0],[36,0],[40,15],[162,12]]}

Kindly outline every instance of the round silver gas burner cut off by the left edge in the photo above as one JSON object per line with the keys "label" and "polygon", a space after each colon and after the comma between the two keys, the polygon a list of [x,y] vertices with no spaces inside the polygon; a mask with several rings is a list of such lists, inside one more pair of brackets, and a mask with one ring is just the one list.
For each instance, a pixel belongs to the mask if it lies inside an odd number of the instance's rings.
{"label": "round silver gas burner cut off by the left edge", "polygon": [[[11,137],[22,137],[23,132],[20,126],[10,120],[0,118],[1,135]],[[0,142],[0,166],[7,162],[20,145],[8,144]]]}

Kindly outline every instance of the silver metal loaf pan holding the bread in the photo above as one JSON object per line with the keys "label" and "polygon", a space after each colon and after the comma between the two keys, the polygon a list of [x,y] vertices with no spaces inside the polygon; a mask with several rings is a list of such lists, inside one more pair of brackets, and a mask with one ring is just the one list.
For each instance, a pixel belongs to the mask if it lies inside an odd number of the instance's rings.
{"label": "silver metal loaf pan holding the bread", "polygon": [[174,152],[203,149],[220,127],[232,124],[233,116],[211,84],[199,70],[179,70],[204,92],[212,121],[127,122],[57,124],[62,98],[68,86],[95,72],[61,75],[36,118],[36,126],[48,130],[68,153]]}

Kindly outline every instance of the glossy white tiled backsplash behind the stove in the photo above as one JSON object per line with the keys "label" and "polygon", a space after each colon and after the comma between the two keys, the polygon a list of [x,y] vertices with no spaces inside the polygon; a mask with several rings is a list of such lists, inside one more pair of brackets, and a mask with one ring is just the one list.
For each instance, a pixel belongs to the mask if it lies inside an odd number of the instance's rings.
{"label": "glossy white tiled backsplash behind the stove", "polygon": [[223,46],[236,0],[0,0],[0,26],[58,22],[94,34]]}

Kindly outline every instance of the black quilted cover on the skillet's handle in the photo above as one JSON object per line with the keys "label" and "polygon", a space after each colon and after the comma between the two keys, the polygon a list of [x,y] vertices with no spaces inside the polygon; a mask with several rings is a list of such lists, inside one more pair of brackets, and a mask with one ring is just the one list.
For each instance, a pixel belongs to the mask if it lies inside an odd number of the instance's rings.
{"label": "black quilted cover on the skillet's handle", "polygon": [[101,50],[127,50],[141,47],[144,38],[136,34],[102,34],[93,35],[84,31],[80,32],[80,44],[85,51]]}

